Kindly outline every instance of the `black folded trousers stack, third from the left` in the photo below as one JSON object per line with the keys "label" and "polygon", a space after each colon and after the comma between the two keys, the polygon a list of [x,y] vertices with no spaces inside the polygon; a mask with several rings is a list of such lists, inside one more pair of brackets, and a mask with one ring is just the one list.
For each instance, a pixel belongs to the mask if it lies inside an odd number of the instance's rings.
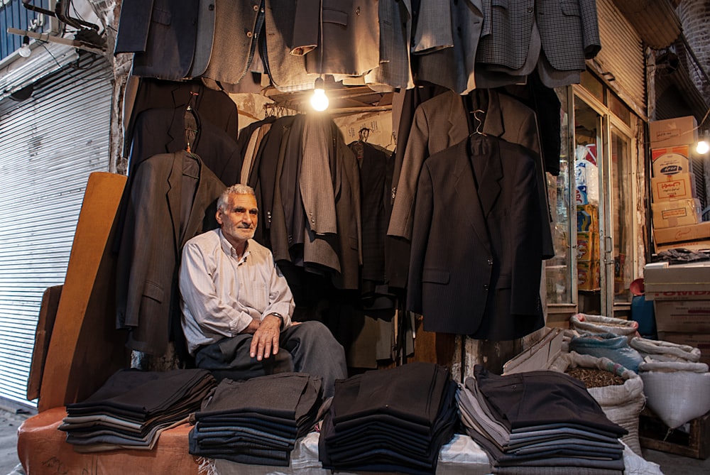
{"label": "black folded trousers stack, third from the left", "polygon": [[432,474],[458,425],[449,371],[415,362],[336,381],[319,458],[325,469]]}

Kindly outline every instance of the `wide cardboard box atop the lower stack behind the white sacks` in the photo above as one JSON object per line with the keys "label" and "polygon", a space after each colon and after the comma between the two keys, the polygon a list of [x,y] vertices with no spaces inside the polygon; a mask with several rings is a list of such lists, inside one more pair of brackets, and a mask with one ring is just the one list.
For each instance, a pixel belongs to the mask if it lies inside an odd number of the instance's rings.
{"label": "wide cardboard box atop the lower stack behind the white sacks", "polygon": [[710,300],[710,262],[649,263],[643,284],[646,300]]}

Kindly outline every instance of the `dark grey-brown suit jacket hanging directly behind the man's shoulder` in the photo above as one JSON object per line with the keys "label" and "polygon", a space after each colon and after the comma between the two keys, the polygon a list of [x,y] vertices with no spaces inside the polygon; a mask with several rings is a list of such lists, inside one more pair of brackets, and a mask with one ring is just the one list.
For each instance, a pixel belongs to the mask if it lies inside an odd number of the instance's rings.
{"label": "dark grey-brown suit jacket hanging directly behind the man's shoulder", "polygon": [[[196,160],[197,176],[183,174],[186,160]],[[135,170],[116,271],[116,327],[131,330],[131,349],[163,355],[171,330],[180,337],[182,246],[217,227],[214,204],[224,188],[185,151],[154,155]]]}

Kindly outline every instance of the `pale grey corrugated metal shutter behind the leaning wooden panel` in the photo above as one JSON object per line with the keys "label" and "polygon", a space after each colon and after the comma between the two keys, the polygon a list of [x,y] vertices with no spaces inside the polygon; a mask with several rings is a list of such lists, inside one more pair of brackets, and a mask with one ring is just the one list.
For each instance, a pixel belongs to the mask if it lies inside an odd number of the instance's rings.
{"label": "pale grey corrugated metal shutter behind the leaning wooden panel", "polygon": [[65,67],[0,116],[0,397],[18,403],[33,405],[42,294],[64,283],[89,173],[109,167],[111,77],[104,58]]}

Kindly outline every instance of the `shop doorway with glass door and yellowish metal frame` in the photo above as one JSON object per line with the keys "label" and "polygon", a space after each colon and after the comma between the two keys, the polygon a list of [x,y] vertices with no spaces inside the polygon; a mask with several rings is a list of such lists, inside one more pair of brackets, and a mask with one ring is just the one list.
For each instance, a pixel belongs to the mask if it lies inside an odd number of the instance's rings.
{"label": "shop doorway with glass door and yellowish metal frame", "polygon": [[577,298],[579,312],[623,317],[638,260],[636,133],[630,110],[600,92],[574,88]]}

